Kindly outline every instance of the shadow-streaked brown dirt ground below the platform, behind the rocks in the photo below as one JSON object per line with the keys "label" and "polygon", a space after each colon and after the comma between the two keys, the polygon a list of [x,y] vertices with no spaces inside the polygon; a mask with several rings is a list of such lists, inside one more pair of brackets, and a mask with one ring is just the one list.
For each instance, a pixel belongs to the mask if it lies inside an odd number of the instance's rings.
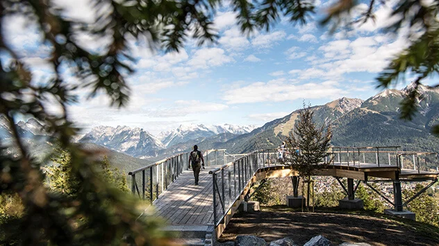
{"label": "shadow-streaked brown dirt ground below the platform, behind the rocks", "polygon": [[[254,235],[271,242],[290,237],[304,245],[323,235],[333,245],[343,242],[370,245],[439,245],[439,227],[421,222],[394,219],[381,214],[340,211],[301,213],[287,207],[267,207],[262,211],[236,214],[219,242],[235,240],[237,235]],[[376,216],[379,216],[377,218]]]}

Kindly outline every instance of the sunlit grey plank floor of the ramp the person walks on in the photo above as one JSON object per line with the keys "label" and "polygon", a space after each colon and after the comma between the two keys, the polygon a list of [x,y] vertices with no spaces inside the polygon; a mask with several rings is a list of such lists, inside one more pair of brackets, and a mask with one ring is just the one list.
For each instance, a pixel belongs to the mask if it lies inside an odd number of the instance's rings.
{"label": "sunlit grey plank floor of the ramp the person walks on", "polygon": [[213,225],[212,175],[208,173],[219,166],[201,169],[199,185],[194,184],[192,170],[184,170],[154,201],[156,215],[168,225]]}

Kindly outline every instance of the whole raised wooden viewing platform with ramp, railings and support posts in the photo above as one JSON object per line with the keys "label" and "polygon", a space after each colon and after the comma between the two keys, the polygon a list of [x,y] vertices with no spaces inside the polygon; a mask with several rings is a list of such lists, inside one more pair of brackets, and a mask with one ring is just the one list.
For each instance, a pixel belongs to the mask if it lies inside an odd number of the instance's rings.
{"label": "whole raised wooden viewing platform with ramp, railings and support posts", "polygon": [[[316,175],[336,177],[347,200],[355,199],[356,188],[363,182],[389,202],[393,211],[403,211],[408,202],[437,182],[439,172],[436,153],[401,152],[397,148],[333,147],[326,159],[330,164],[317,170]],[[156,209],[155,215],[167,222],[169,230],[180,231],[182,236],[201,233],[218,238],[240,204],[253,195],[250,191],[256,182],[299,176],[297,170],[279,162],[276,150],[240,155],[208,150],[204,156],[206,169],[201,170],[199,185],[194,184],[192,170],[188,168],[188,153],[129,173],[133,194],[150,200]],[[347,186],[340,181],[342,178],[347,178]],[[381,194],[370,182],[392,182],[393,199]],[[403,203],[401,182],[429,184]]]}

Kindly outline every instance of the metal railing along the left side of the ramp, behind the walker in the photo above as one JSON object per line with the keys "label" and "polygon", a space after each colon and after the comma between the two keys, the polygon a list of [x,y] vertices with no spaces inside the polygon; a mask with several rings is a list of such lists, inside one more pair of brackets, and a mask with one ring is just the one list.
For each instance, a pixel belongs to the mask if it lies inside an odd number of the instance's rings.
{"label": "metal railing along the left side of the ramp, behind the walker", "polygon": [[[226,150],[204,150],[205,166],[225,163]],[[131,176],[131,193],[136,193],[142,200],[154,202],[172,184],[177,177],[188,170],[189,152],[156,161],[128,173]],[[138,186],[140,184],[140,187]]]}

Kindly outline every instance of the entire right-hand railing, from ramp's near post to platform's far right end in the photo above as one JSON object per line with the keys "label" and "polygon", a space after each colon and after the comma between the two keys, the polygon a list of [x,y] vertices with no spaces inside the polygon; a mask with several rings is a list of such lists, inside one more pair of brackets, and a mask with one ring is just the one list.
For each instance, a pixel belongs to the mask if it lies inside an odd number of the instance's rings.
{"label": "entire right-hand railing, from ramp's near post to platform's far right end", "polygon": [[[413,157],[413,168],[420,173],[421,168],[431,171],[431,167],[436,162],[436,171],[438,168],[437,154],[433,152],[406,152],[398,151],[399,146],[385,147],[332,147],[329,149],[329,156],[322,159],[322,162],[331,161],[332,165],[356,166],[356,167],[398,167],[401,170],[407,170],[408,161],[404,158]],[[283,155],[279,155],[284,151]],[[280,150],[257,150],[249,154],[231,155],[225,154],[226,157],[232,157],[233,160],[224,166],[216,168],[209,172],[213,179],[213,220],[215,226],[218,226],[226,214],[231,210],[235,201],[240,199],[247,184],[251,181],[259,168],[270,166],[287,165],[288,162],[280,161],[279,157],[288,155],[301,155],[288,152],[288,149]],[[422,159],[421,156],[424,156]],[[427,165],[430,156],[431,165]],[[436,161],[435,161],[436,160]],[[429,168],[430,170],[429,170]],[[242,197],[241,197],[242,199]]]}

